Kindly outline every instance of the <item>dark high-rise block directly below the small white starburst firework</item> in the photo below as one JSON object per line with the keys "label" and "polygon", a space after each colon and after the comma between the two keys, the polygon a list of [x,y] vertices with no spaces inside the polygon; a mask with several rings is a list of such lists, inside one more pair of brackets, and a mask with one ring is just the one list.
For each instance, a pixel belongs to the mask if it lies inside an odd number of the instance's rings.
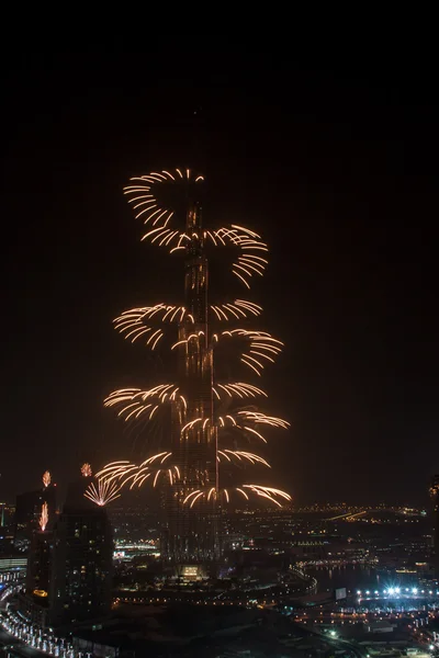
{"label": "dark high-rise block directly below the small white starburst firework", "polygon": [[85,498],[89,478],[74,483],[54,529],[50,624],[104,617],[111,608],[113,538],[103,507]]}

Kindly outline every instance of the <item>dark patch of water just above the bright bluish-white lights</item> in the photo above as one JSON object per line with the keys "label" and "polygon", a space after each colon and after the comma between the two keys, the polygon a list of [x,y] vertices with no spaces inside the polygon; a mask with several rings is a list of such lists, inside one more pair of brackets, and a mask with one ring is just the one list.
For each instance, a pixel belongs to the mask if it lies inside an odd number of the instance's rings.
{"label": "dark patch of water just above the bright bluish-white lights", "polygon": [[[314,576],[318,582],[318,591],[325,592],[339,587],[348,590],[382,590],[395,582],[390,575],[362,565],[348,565],[345,567],[316,567],[306,569],[306,574]],[[399,582],[399,579],[398,579]],[[405,585],[405,582],[401,582]]]}

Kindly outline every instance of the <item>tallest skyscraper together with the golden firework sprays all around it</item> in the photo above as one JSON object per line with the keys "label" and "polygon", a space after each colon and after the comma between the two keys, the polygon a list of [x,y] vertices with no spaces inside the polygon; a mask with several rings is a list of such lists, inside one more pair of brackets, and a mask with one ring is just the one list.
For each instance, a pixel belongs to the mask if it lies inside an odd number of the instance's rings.
{"label": "tallest skyscraper together with the golden firework sprays all around it", "polygon": [[[108,407],[122,407],[119,417],[125,421],[146,424],[153,417],[156,421],[161,416],[164,422],[164,417],[169,420],[170,416],[171,429],[160,442],[160,452],[140,464],[114,462],[98,474],[109,481],[119,480],[121,486],[130,483],[131,488],[145,481],[162,488],[167,522],[161,553],[176,566],[215,563],[221,553],[218,515],[232,496],[247,501],[252,495],[275,506],[281,506],[278,499],[291,500],[278,488],[240,480],[243,466],[269,467],[262,456],[247,450],[250,441],[266,442],[259,427],[286,428],[289,423],[259,412],[250,398],[267,394],[241,378],[228,382],[228,366],[222,367],[232,354],[234,361],[240,362],[239,368],[261,375],[267,362],[273,362],[280,353],[282,343],[266,331],[243,328],[246,318],[262,311],[258,304],[230,298],[224,304],[212,304],[207,299],[207,245],[226,247],[235,253],[232,273],[246,288],[255,274],[263,274],[267,245],[243,226],[203,226],[203,180],[190,169],[164,170],[135,177],[125,188],[136,217],[147,225],[142,239],[148,238],[159,248],[183,256],[184,298],[180,305],[160,303],[126,310],[114,326],[132,342],[139,339],[151,350],[160,341],[167,343],[172,332],[172,342],[167,344],[176,354],[178,367],[171,384],[159,384],[149,390],[124,388],[105,399]],[[180,227],[173,203],[176,192],[184,204],[184,213],[180,214],[184,224]],[[227,322],[236,322],[237,327],[229,329]],[[235,347],[227,348],[225,343]],[[218,358],[218,349],[223,356]],[[226,371],[226,379],[222,371]],[[145,434],[146,443],[153,443],[154,432]],[[238,480],[230,472],[235,468]]]}

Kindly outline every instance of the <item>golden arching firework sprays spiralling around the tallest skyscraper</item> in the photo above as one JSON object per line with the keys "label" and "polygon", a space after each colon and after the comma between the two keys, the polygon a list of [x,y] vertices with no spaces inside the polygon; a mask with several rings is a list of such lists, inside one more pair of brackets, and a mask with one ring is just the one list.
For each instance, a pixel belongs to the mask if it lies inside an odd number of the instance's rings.
{"label": "golden arching firework sprays spiralling around the tallest skyscraper", "polygon": [[[146,232],[142,240],[166,248],[170,253],[183,251],[189,253],[204,253],[205,245],[213,247],[228,247],[235,250],[233,260],[233,274],[247,287],[255,276],[263,275],[268,260],[267,245],[261,237],[243,226],[230,225],[218,229],[201,229],[201,223],[187,223],[184,230],[176,227],[175,213],[159,201],[159,191],[167,185],[199,185],[203,177],[194,174],[190,169],[176,169],[173,171],[153,172],[147,175],[131,179],[130,185],[124,190],[132,204],[135,215],[146,226]],[[194,227],[198,228],[194,228]],[[192,308],[192,311],[190,310]],[[241,347],[240,362],[249,368],[250,373],[258,376],[263,368],[274,362],[282,350],[283,343],[266,331],[247,328],[235,328],[224,330],[221,325],[225,322],[239,322],[258,317],[262,308],[258,304],[247,299],[235,299],[230,303],[211,304],[209,306],[209,321],[203,325],[196,319],[193,303],[184,305],[169,305],[166,303],[154,306],[132,308],[122,313],[114,320],[114,327],[125,339],[133,343],[138,341],[145,343],[151,350],[165,344],[165,337],[172,329],[179,330],[179,338],[170,347],[171,350],[182,352],[185,359],[189,354],[200,354],[203,349],[207,350],[213,362],[214,349],[219,343],[234,341]],[[206,311],[207,313],[207,311]],[[207,317],[207,316],[206,316]],[[211,325],[217,325],[216,332],[210,331]],[[193,328],[192,328],[193,327]],[[221,329],[219,329],[221,327]],[[184,330],[181,331],[181,328]],[[192,328],[192,329],[191,329]],[[204,416],[203,410],[194,412],[192,406],[188,410],[187,399],[177,384],[159,384],[150,389],[123,388],[110,394],[104,406],[114,408],[117,416],[131,423],[149,422],[156,419],[161,409],[167,406],[178,409],[181,441],[191,442],[194,438],[204,433],[216,432],[218,447],[216,449],[216,461],[223,468],[225,466],[264,466],[271,468],[270,464],[254,452],[237,449],[230,450],[224,443],[224,438],[233,433],[233,436],[241,436],[246,441],[262,441],[266,438],[260,433],[260,426],[279,429],[288,429],[289,423],[277,417],[267,416],[262,412],[237,409],[227,413],[224,409],[230,404],[244,404],[258,397],[267,397],[261,388],[245,382],[217,382],[212,387],[214,404],[213,417]],[[248,404],[248,401],[247,401]],[[216,408],[218,407],[218,408]],[[223,409],[223,411],[219,410]],[[161,418],[161,417],[160,417]],[[234,439],[234,444],[236,439]],[[165,446],[164,446],[165,447]],[[91,472],[90,472],[91,475]],[[290,501],[291,496],[274,487],[262,485],[243,484],[239,487],[227,489],[216,484],[193,486],[185,483],[185,475],[180,473],[178,463],[175,463],[172,450],[165,450],[146,458],[140,464],[128,461],[120,461],[108,464],[97,477],[102,486],[108,487],[139,487],[148,481],[153,487],[158,483],[172,486],[181,483],[185,487],[184,504],[190,509],[203,501],[222,500],[229,502],[232,497],[248,500],[249,496],[260,497],[269,502],[281,506]],[[189,487],[189,490],[188,490]],[[191,490],[192,489],[192,490]],[[119,489],[117,489],[119,494]],[[99,487],[90,491],[94,498],[99,498]]]}

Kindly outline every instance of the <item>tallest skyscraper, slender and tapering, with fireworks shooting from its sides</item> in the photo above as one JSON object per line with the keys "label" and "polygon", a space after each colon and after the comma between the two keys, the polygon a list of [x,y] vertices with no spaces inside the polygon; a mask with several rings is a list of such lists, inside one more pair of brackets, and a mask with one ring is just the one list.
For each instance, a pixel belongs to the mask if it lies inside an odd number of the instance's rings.
{"label": "tallest skyscraper, slender and tapering, with fireworks shooting from its sides", "polygon": [[[187,235],[202,235],[201,206],[188,201]],[[213,348],[207,344],[207,259],[203,240],[191,240],[184,261],[184,306],[187,315],[179,324],[179,341],[188,349],[179,359],[179,390],[182,400],[172,406],[172,455],[180,481],[167,489],[167,527],[164,532],[164,556],[176,565],[209,563],[219,555],[216,497],[204,496],[194,509],[184,504],[196,490],[217,483],[217,428],[213,420]],[[190,340],[193,336],[204,340]],[[189,419],[206,419],[193,429],[181,427],[182,407]]]}

